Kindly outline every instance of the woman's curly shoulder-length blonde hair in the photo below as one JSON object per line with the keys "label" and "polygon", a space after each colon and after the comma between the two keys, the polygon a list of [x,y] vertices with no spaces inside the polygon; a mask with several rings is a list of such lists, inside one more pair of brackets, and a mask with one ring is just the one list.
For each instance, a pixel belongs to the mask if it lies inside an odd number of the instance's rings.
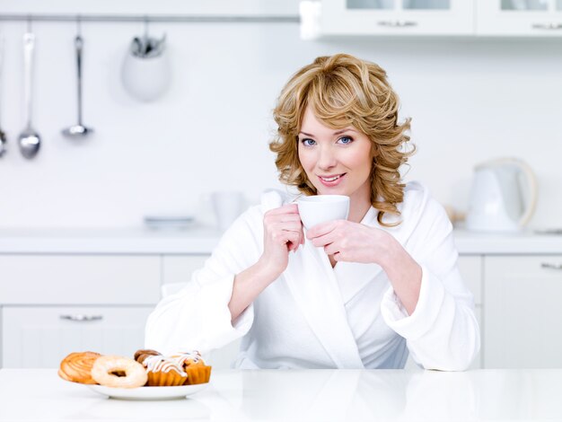
{"label": "woman's curly shoulder-length blonde hair", "polygon": [[327,127],[355,127],[372,141],[371,204],[379,211],[400,215],[397,205],[404,199],[400,166],[416,148],[409,142],[410,120],[398,122],[399,97],[387,81],[381,66],[337,54],[317,57],[289,80],[281,91],[273,116],[277,136],[269,149],[277,154],[279,180],[296,186],[304,195],[316,195],[316,189],[300,163],[298,133],[304,110],[311,107],[316,119]]}

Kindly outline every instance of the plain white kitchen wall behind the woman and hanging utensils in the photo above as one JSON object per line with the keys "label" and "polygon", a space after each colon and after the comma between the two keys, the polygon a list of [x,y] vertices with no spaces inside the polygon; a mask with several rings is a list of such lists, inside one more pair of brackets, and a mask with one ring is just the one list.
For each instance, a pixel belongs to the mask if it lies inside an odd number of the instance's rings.
{"label": "plain white kitchen wall behind the woman and hanging utensils", "polygon": [[418,147],[408,180],[463,208],[475,163],[518,156],[539,179],[531,224],[562,224],[562,40],[305,42],[296,23],[154,23],[154,34],[167,33],[173,81],[162,100],[140,103],[121,86],[119,67],[143,25],[83,22],[84,122],[96,133],[78,142],[60,135],[76,119],[75,23],[33,22],[43,145],[27,161],[16,146],[25,28],[0,22],[0,123],[10,136],[0,227],[131,226],[159,212],[205,220],[215,189],[242,189],[256,201],[279,186],[268,151],[278,92],[300,66],[340,51],[382,65],[400,93]]}

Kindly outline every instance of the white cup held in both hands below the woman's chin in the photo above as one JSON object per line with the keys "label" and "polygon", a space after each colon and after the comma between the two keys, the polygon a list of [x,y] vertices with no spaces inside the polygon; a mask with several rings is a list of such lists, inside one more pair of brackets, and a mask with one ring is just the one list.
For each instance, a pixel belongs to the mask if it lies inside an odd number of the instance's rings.
{"label": "white cup held in both hands below the woman's chin", "polygon": [[349,197],[345,195],[313,195],[297,199],[296,204],[307,230],[316,224],[346,220],[349,214]]}

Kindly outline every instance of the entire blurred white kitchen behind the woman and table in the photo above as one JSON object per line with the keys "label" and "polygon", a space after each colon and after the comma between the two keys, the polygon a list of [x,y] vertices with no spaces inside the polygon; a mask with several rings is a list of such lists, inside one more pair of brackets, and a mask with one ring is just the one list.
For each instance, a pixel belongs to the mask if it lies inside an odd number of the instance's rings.
{"label": "entire blurred white kitchen behind the woman and table", "polygon": [[562,0],[0,0],[0,366],[142,347],[154,304],[285,189],[285,82],[345,52],[388,72],[404,178],[455,223],[472,367],[562,367],[561,37]]}

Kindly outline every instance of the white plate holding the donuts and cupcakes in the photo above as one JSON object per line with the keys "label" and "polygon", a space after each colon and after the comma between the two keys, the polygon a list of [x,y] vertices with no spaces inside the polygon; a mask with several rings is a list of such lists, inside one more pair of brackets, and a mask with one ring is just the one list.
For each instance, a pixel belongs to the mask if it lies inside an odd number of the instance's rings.
{"label": "white plate holding the donuts and cupcakes", "polygon": [[103,385],[86,385],[92,391],[101,395],[109,396],[111,399],[122,400],[170,400],[184,399],[186,396],[203,390],[208,385],[180,385],[179,387],[138,387],[138,388],[113,388]]}

